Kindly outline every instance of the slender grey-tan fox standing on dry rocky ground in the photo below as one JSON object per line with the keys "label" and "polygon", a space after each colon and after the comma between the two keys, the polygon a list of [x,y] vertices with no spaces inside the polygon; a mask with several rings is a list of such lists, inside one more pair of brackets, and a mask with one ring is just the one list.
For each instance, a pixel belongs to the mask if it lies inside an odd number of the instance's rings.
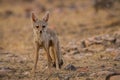
{"label": "slender grey-tan fox standing on dry rocky ground", "polygon": [[38,58],[39,49],[44,49],[47,55],[47,66],[50,71],[51,67],[55,67],[59,70],[63,65],[63,58],[60,51],[60,44],[57,34],[52,29],[48,28],[49,11],[45,13],[42,19],[38,19],[34,12],[32,12],[33,22],[33,36],[35,44],[35,62],[33,67],[33,73],[35,73]]}

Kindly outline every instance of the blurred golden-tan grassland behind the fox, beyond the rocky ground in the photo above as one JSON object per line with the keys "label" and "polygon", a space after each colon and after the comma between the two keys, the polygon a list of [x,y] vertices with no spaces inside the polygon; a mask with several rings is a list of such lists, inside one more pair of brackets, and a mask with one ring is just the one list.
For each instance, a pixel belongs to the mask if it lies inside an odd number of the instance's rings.
{"label": "blurred golden-tan grassland behind the fox, beyond the rocky ground", "polygon": [[33,44],[31,11],[50,11],[49,27],[61,44],[120,30],[120,0],[0,0],[0,48],[29,51]]}

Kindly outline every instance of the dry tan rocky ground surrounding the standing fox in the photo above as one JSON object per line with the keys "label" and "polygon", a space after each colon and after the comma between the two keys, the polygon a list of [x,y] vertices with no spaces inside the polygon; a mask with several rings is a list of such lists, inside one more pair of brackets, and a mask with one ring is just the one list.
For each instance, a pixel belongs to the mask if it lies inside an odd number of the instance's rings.
{"label": "dry tan rocky ground surrounding the standing fox", "polygon": [[[120,2],[94,8],[94,0],[0,0],[0,80],[120,79]],[[31,11],[41,19],[50,11],[64,59],[48,74],[46,54],[39,51],[36,76]]]}

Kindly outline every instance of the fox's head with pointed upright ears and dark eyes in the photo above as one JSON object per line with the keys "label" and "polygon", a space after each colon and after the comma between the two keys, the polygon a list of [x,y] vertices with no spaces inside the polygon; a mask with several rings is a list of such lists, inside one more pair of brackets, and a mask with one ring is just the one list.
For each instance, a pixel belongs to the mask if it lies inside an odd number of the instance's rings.
{"label": "fox's head with pointed upright ears and dark eyes", "polygon": [[43,31],[47,28],[48,19],[49,19],[49,12],[46,12],[46,14],[43,16],[41,20],[38,19],[34,13],[32,13],[34,32],[37,34],[42,34]]}

